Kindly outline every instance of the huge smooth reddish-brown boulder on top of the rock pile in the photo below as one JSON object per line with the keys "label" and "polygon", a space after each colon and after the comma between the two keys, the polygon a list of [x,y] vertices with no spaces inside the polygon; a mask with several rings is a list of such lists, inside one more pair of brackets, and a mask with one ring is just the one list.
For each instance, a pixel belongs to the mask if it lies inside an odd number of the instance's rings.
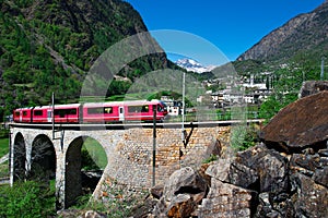
{"label": "huge smooth reddish-brown boulder on top of the rock pile", "polygon": [[306,147],[321,149],[328,138],[327,111],[328,90],[301,98],[280,110],[262,129],[260,138],[288,153]]}

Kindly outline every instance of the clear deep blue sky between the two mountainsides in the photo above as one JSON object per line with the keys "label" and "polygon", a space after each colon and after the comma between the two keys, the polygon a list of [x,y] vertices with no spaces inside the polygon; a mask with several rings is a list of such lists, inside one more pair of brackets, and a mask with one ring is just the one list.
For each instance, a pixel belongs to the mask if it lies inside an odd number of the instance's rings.
{"label": "clear deep blue sky between the two mountainsides", "polygon": [[[227,60],[234,61],[271,31],[301,13],[313,11],[325,0],[126,1],[140,13],[149,31],[171,29],[192,35],[212,44]],[[153,36],[165,51],[169,50],[168,39],[162,41],[155,34]],[[186,48],[178,48],[179,44],[174,41],[171,46],[179,52]],[[201,55],[200,48],[199,44],[191,43],[188,49]],[[208,61],[204,64],[218,63]]]}

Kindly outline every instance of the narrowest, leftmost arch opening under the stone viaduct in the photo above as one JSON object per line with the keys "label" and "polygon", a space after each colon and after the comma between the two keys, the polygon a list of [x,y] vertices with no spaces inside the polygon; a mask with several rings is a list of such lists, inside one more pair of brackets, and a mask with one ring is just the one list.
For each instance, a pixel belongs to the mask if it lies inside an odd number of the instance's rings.
{"label": "narrowest, leftmost arch opening under the stone viaduct", "polygon": [[26,146],[22,133],[16,133],[13,144],[13,181],[26,178]]}

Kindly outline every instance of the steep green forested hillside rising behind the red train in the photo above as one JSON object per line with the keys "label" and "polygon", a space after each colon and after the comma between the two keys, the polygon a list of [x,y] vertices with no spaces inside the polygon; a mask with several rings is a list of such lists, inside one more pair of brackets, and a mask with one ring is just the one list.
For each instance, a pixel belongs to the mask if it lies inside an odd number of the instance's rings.
{"label": "steep green forested hillside rising behind the red train", "polygon": [[[99,55],[120,39],[147,31],[121,0],[0,0],[0,113],[14,107],[75,101]],[[167,66],[165,53],[129,63],[108,95],[138,76]],[[1,116],[2,117],[2,116]]]}

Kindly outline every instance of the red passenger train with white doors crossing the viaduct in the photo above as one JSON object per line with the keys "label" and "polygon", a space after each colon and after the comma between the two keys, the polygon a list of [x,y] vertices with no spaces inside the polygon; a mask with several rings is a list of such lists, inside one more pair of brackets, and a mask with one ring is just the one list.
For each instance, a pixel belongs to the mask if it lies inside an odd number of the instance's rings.
{"label": "red passenger train with white doors crossing the viaduct", "polygon": [[[167,110],[166,105],[161,100],[56,105],[54,118],[55,123],[152,121],[153,109],[156,110],[156,121],[163,121]],[[20,108],[13,111],[13,121],[22,123],[51,123],[51,106]]]}

